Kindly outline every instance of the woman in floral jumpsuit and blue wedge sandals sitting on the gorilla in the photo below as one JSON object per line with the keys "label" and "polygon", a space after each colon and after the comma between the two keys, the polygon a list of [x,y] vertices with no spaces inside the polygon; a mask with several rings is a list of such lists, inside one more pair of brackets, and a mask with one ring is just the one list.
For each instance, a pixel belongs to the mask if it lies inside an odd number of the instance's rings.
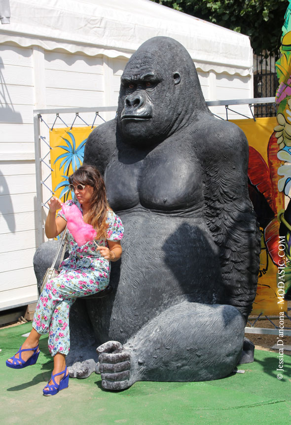
{"label": "woman in floral jumpsuit and blue wedge sandals sitting on the gorilla", "polygon": [[[68,387],[69,372],[66,354],[70,351],[70,308],[78,297],[92,295],[109,284],[110,261],[121,257],[120,240],[123,227],[120,218],[110,209],[106,188],[99,171],[83,165],[69,177],[70,189],[85,223],[97,231],[96,244],[91,241],[78,247],[72,234],[67,231],[69,257],[60,265],[60,274],[47,283],[40,294],[33,319],[33,329],[19,351],[6,360],[6,365],[21,369],[36,363],[39,355],[38,341],[49,333],[48,348],[54,359],[51,380],[43,389],[44,395],[54,395]],[[48,202],[49,213],[45,222],[45,234],[55,238],[66,228],[66,218],[60,199],[52,197]]]}

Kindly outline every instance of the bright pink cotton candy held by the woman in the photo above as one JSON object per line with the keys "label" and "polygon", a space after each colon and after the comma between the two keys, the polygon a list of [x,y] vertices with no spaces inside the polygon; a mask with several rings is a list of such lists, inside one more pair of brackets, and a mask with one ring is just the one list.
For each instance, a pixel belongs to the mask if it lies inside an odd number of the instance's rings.
{"label": "bright pink cotton candy held by the woman", "polygon": [[67,226],[79,247],[96,238],[97,232],[91,224],[84,223],[82,213],[76,205],[62,204]]}

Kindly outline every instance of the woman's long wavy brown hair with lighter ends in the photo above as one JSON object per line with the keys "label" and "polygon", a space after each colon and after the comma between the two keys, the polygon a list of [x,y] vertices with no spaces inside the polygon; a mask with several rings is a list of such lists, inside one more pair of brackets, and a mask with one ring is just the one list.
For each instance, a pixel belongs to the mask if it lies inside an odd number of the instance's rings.
{"label": "woman's long wavy brown hair with lighter ends", "polygon": [[96,229],[98,239],[107,239],[108,224],[106,218],[110,207],[107,201],[105,183],[100,172],[92,165],[81,165],[69,177],[69,183],[74,185],[81,183],[93,187],[88,223]]}

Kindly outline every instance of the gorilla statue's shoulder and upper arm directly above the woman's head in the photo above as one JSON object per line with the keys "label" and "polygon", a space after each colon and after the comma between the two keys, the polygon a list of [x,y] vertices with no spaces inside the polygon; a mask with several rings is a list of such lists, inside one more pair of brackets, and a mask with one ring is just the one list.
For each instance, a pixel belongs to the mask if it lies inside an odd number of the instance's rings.
{"label": "gorilla statue's shoulder and upper arm directly above the woman's head", "polygon": [[85,144],[84,164],[93,165],[104,176],[110,157],[116,148],[116,119],[95,128]]}

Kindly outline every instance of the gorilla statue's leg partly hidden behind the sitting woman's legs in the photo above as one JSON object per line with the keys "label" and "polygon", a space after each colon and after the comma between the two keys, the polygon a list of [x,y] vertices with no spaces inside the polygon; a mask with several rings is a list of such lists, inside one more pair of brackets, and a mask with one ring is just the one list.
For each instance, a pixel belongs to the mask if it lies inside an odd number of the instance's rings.
{"label": "gorilla statue's leg partly hidden behind the sitting woman's legs", "polygon": [[[37,286],[40,290],[43,276],[59,248],[59,241],[49,241],[41,244],[34,256],[34,269]],[[65,258],[68,256],[65,255]],[[61,257],[61,253],[60,253]],[[59,259],[56,266],[59,265]],[[66,362],[71,378],[87,378],[95,371],[97,354],[96,340],[83,300],[76,300],[70,312],[71,349]]]}

